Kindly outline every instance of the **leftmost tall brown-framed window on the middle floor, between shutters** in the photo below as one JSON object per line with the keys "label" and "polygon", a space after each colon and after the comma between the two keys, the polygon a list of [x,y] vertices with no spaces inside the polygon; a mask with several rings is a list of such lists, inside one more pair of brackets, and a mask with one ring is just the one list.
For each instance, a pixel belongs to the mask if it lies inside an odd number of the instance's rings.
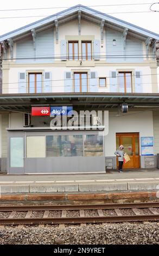
{"label": "leftmost tall brown-framed window on the middle floor, between shutters", "polygon": [[42,73],[29,74],[29,93],[42,93]]}

